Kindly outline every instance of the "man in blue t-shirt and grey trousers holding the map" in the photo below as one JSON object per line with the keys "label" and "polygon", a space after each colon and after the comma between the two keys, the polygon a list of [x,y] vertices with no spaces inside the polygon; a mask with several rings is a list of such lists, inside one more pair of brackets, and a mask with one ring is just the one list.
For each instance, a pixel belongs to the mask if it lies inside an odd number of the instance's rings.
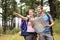
{"label": "man in blue t-shirt and grey trousers holding the map", "polygon": [[37,12],[38,12],[39,17],[43,18],[47,24],[47,25],[45,25],[45,30],[43,30],[42,32],[39,33],[40,40],[53,40],[53,36],[51,35],[51,32],[50,32],[50,30],[51,30],[50,27],[52,27],[54,25],[52,16],[50,14],[48,14],[50,17],[50,22],[51,22],[51,24],[49,24],[49,18],[47,16],[47,14],[44,13],[43,7],[41,5],[39,5],[37,7]]}

